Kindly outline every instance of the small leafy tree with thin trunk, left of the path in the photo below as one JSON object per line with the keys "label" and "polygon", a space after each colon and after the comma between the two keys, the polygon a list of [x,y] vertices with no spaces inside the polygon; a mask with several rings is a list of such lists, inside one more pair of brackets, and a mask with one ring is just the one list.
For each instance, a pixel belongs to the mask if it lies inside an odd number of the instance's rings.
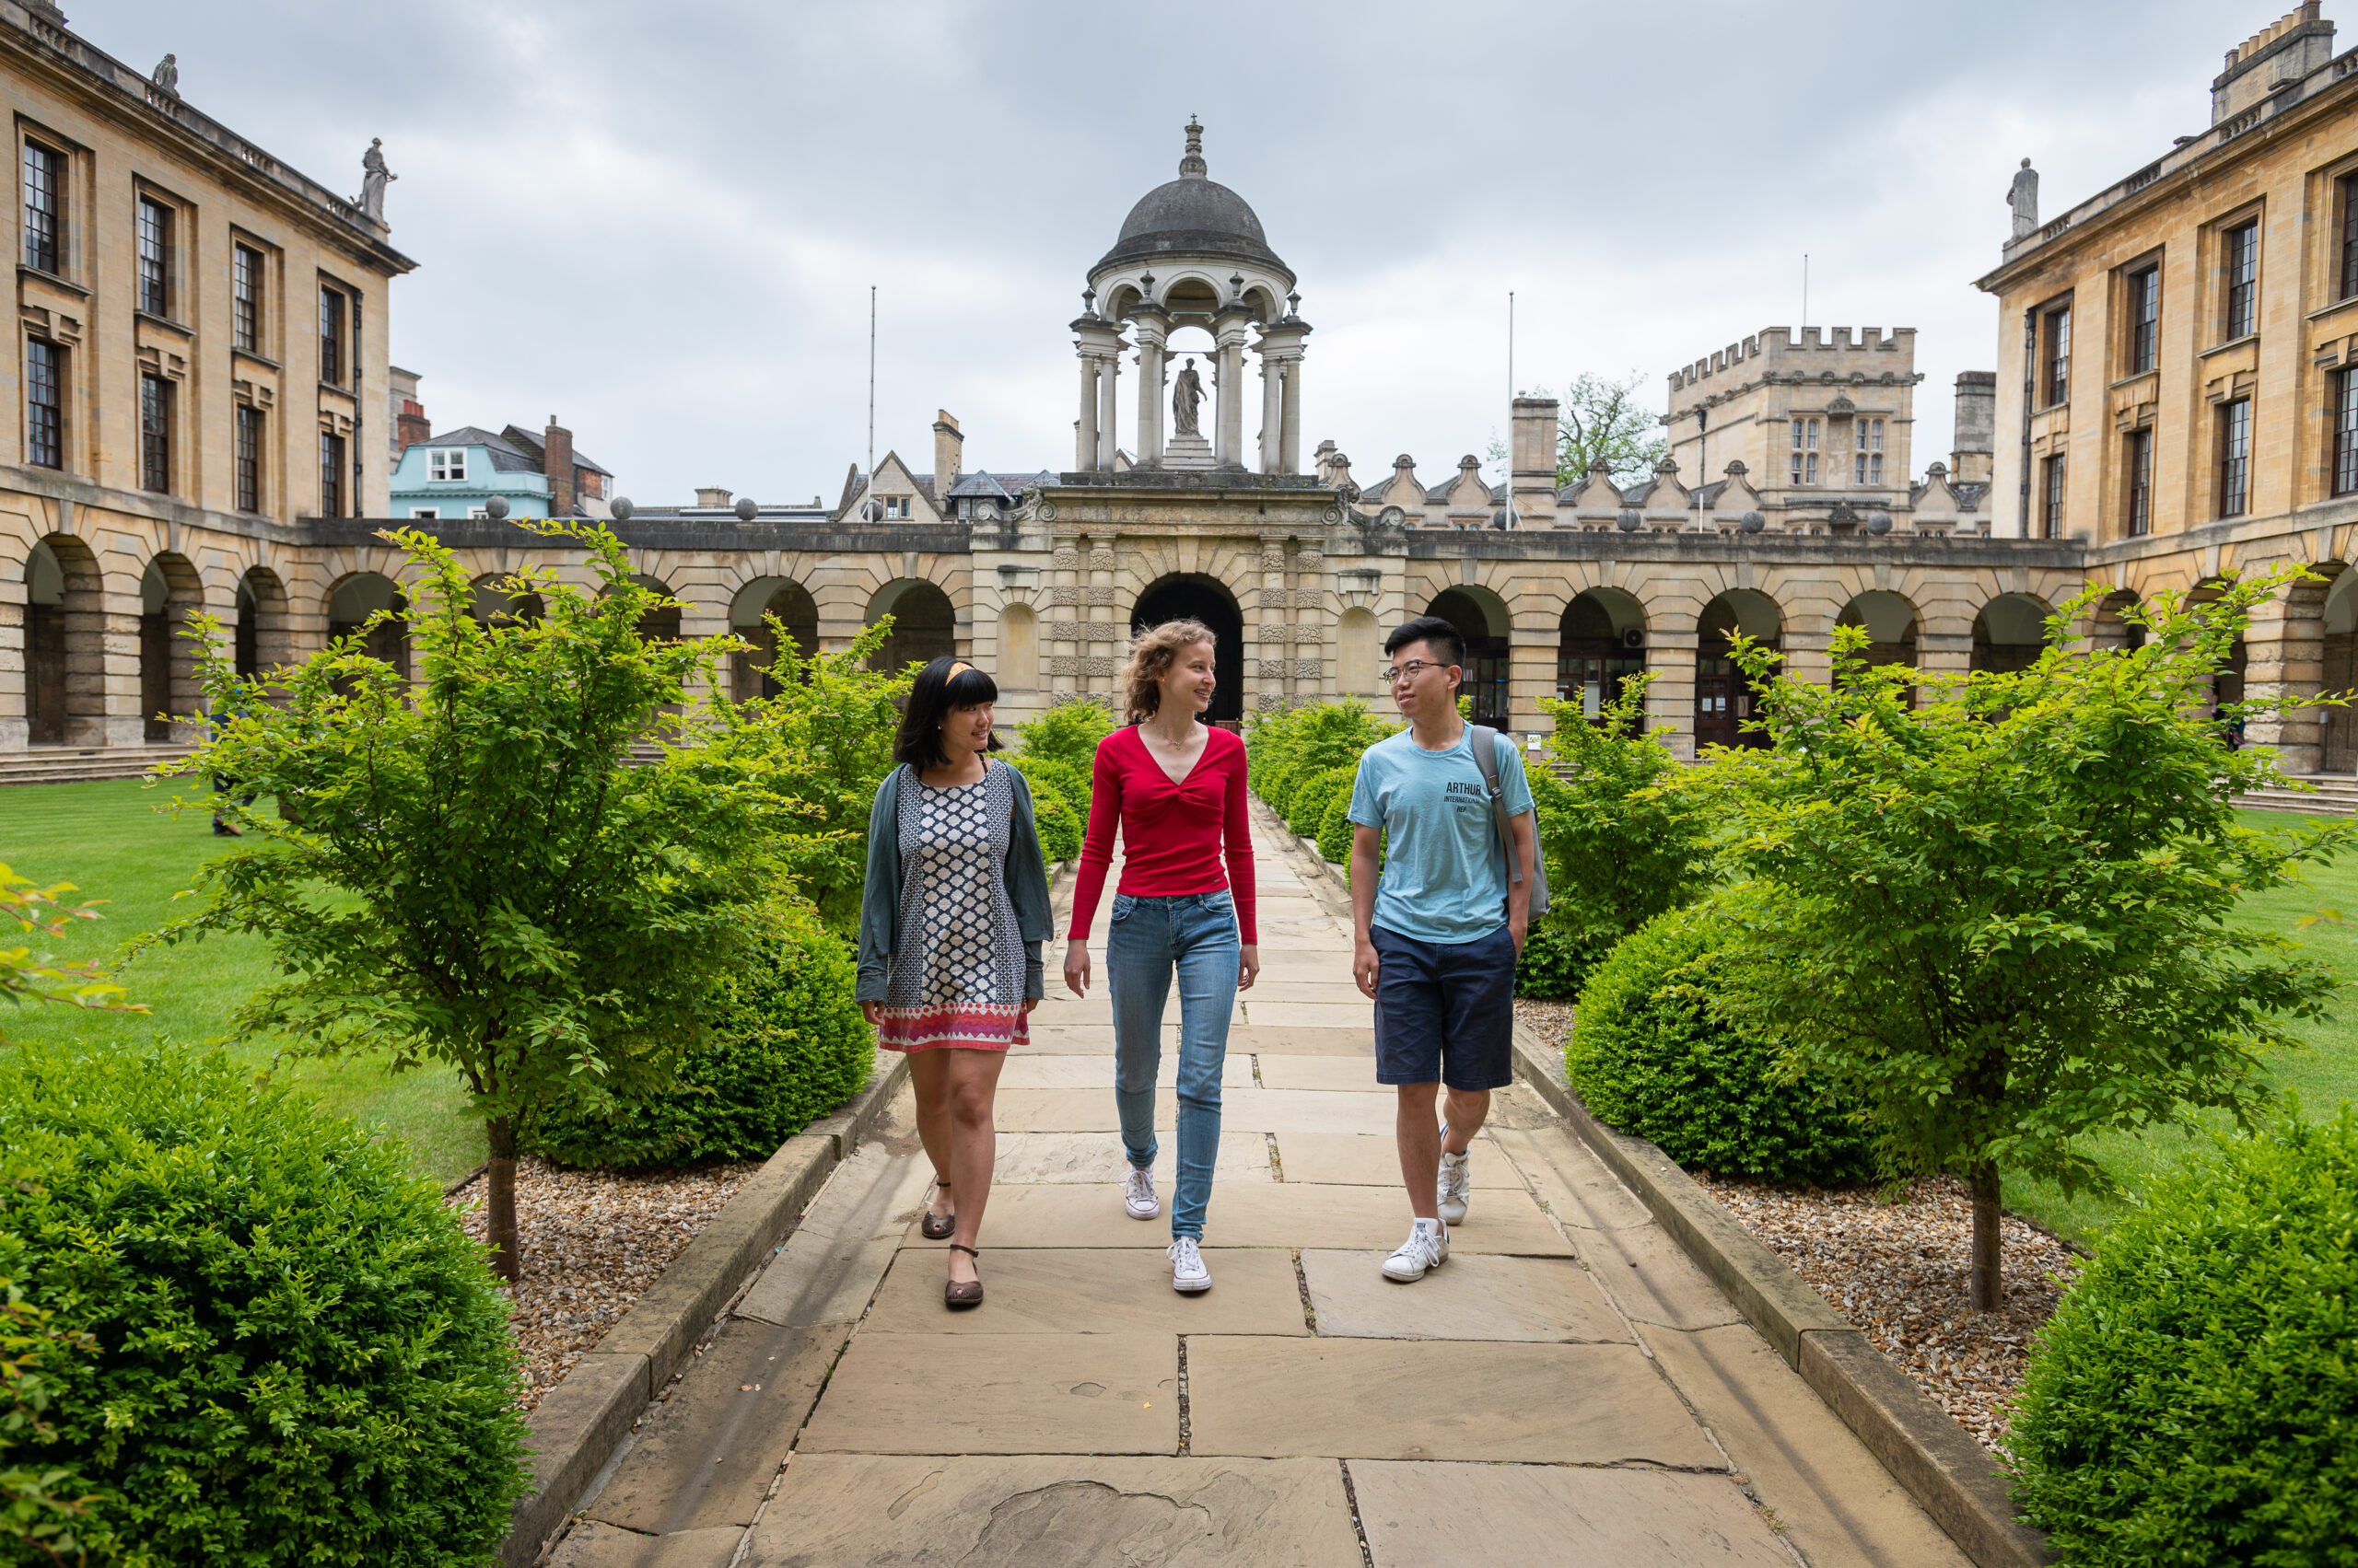
{"label": "small leafy tree with thin trunk, left of the path", "polygon": [[[762,938],[769,849],[795,821],[762,747],[663,743],[632,766],[658,712],[693,681],[712,689],[740,644],[641,639],[639,618],[672,601],[620,540],[526,526],[585,547],[601,592],[519,575],[505,587],[540,594],[542,620],[483,625],[448,549],[384,535],[417,568],[415,691],[363,651],[373,620],[276,672],[274,705],[236,674],[219,625],[198,622],[205,693],[236,717],[182,771],[233,778],[236,797],[200,804],[252,837],[203,868],[198,915],[146,938],[264,936],[285,979],[241,1004],[245,1035],[457,1068],[486,1125],[507,1280],[519,1118],[578,1075],[667,1080],[712,983]],[[299,825],[241,804],[255,795]]]}

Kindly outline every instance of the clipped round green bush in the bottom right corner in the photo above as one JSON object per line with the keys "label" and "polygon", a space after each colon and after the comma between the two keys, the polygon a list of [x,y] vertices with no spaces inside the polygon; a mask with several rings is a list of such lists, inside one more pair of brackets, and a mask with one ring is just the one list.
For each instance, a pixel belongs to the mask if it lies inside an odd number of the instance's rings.
{"label": "clipped round green bush in the bottom right corner", "polygon": [[2040,1332],[2016,1502],[2068,1563],[2358,1561],[2358,1111],[2153,1181]]}

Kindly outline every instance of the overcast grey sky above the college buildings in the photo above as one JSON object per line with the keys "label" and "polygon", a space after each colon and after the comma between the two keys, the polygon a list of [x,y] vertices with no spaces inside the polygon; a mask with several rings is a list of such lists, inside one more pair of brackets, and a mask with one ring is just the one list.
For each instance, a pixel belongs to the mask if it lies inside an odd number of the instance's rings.
{"label": "overcast grey sky above the college buildings", "polygon": [[880,455],[931,467],[948,408],[967,467],[1068,465],[1066,323],[1188,113],[1302,278],[1304,446],[1361,479],[1488,448],[1507,290],[1523,387],[1644,370],[1660,408],[1672,365],[1799,323],[1802,252],[1811,323],[1919,330],[1922,469],[1995,363],[1971,281],[2016,160],[2047,215],[2136,170],[2283,9],[68,0],[337,189],[384,137],[434,427],[554,413],[641,502],[832,502],[870,283]]}

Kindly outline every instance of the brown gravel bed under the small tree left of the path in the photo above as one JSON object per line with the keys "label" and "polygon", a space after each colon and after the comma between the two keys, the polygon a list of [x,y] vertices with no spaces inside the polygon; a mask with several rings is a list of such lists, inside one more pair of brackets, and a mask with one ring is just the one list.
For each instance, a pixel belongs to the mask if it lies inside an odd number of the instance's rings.
{"label": "brown gravel bed under the small tree left of the path", "polygon": [[[759,1162],[747,1162],[623,1177],[516,1160],[523,1252],[523,1280],[509,1316],[509,1332],[523,1351],[516,1403],[526,1410],[538,1405],[582,1351],[597,1349],[639,1292],[757,1170]],[[476,1177],[448,1203],[460,1210],[467,1236],[481,1243],[483,1179]]]}

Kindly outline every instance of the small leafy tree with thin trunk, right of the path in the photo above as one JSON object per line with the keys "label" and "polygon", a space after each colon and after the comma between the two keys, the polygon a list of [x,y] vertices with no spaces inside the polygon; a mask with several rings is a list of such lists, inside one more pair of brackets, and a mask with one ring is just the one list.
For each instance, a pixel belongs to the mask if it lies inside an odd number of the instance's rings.
{"label": "small leafy tree with thin trunk, right of the path", "polygon": [[1969,1181],[1974,1309],[2000,1299],[2002,1165],[2103,1188],[2087,1132],[2202,1106],[2250,1127],[2261,1052],[2294,1045],[2285,1021],[2334,988],[2233,917],[2351,828],[2238,825],[2235,797],[2285,776],[2224,743],[2209,698],[2252,606],[2292,575],[2200,606],[2155,594],[2129,611],[2136,651],[2063,646],[2089,592],[2016,674],[1872,667],[1865,630],[1837,627],[1818,686],[1738,639],[1773,747],[1707,764],[1728,858],[1764,884],[1731,1007],[1794,1075],[1863,1101],[1896,1165]]}

